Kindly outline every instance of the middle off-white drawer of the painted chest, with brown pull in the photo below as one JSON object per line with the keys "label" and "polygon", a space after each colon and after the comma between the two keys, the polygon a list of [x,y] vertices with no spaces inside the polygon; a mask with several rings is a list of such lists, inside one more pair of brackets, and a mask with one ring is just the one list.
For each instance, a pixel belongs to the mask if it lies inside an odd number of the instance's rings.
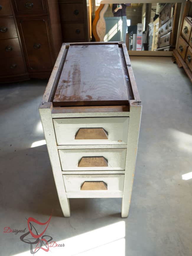
{"label": "middle off-white drawer of the painted chest, with brown pull", "polygon": [[60,149],[63,171],[125,170],[126,148]]}

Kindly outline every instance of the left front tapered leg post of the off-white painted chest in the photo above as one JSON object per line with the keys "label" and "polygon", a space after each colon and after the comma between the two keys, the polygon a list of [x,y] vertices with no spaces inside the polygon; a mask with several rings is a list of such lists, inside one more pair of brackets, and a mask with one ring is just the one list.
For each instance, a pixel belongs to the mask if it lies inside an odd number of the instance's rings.
{"label": "left front tapered leg post of the off-white painted chest", "polygon": [[52,107],[53,105],[51,102],[41,104],[39,107],[39,113],[43,125],[43,131],[47,143],[47,149],[51,161],[53,177],[55,180],[58,198],[61,204],[61,209],[63,211],[64,217],[70,217],[69,199],[66,196],[64,180],[62,177],[61,164],[57,149],[55,131],[53,126],[53,119],[51,116]]}

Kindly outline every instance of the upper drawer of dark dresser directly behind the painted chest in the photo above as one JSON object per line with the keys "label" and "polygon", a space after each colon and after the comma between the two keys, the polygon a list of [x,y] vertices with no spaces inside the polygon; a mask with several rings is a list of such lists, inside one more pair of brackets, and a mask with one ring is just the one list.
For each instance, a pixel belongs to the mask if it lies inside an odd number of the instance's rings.
{"label": "upper drawer of dark dresser directly behind the painted chest", "polygon": [[61,22],[83,22],[83,4],[59,4]]}

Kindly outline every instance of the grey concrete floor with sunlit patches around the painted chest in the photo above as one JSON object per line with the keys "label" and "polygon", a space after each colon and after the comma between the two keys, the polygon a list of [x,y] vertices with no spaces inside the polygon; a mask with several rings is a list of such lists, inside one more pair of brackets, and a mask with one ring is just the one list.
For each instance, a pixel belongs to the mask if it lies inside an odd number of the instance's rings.
{"label": "grey concrete floor with sunlit patches around the painted chest", "polygon": [[[192,255],[192,86],[170,57],[131,57],[143,110],[132,201],[71,199],[71,217],[58,202],[38,105],[47,81],[0,87],[0,255],[31,255],[22,233],[28,217],[65,247],[37,255]],[[43,143],[43,142],[42,142]],[[187,180],[186,180],[187,179]],[[38,232],[40,233],[41,231]],[[30,237],[30,235],[28,236]]]}

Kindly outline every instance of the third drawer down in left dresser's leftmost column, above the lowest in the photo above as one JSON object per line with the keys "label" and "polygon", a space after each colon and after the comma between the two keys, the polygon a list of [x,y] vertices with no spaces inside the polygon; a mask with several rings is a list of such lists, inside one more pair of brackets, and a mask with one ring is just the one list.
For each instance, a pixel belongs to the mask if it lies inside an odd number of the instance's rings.
{"label": "third drawer down in left dresser's leftmost column, above the lowest", "polygon": [[18,38],[0,40],[0,59],[22,56]]}

